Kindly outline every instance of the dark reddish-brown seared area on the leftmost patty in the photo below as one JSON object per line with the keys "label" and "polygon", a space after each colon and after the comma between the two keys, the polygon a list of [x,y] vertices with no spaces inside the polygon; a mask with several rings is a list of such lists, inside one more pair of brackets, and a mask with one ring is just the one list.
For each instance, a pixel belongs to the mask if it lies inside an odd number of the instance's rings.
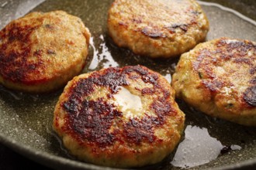
{"label": "dark reddish-brown seared area on the leftmost patty", "polygon": [[[40,83],[41,80],[31,80],[29,76],[44,69],[41,53],[31,51],[33,41],[30,36],[38,27],[22,26],[19,22],[12,22],[0,32],[0,39],[5,39],[0,45],[0,73],[4,79],[28,85]],[[30,56],[36,56],[36,62],[29,61]],[[40,70],[36,69],[39,67]]]}

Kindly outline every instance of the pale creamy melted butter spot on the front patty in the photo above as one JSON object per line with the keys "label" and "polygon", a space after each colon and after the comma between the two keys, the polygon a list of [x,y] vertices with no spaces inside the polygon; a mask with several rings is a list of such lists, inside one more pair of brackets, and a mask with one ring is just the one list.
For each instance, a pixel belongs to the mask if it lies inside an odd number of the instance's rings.
{"label": "pale creamy melted butter spot on the front patty", "polygon": [[119,87],[119,91],[113,95],[117,107],[126,118],[142,117],[142,103],[140,97],[130,93],[125,87]]}

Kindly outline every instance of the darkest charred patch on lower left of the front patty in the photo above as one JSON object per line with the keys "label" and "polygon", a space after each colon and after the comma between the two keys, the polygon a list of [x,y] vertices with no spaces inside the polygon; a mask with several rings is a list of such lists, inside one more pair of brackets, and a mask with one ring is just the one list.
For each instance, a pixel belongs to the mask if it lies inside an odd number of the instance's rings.
{"label": "darkest charred patch on lower left of the front patty", "polygon": [[116,140],[115,135],[109,133],[114,117],[120,117],[122,114],[113,109],[112,104],[108,104],[102,99],[84,100],[81,102],[81,108],[78,111],[72,109],[75,114],[69,114],[66,131],[78,134],[77,138],[81,141],[87,140],[97,143],[99,147],[111,145]]}

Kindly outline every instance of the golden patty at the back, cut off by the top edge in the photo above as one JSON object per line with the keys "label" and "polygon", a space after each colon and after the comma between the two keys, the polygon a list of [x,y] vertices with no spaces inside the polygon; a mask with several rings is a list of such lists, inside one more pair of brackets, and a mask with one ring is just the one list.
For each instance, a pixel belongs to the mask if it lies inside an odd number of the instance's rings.
{"label": "golden patty at the back, cut off by the top edge", "polygon": [[202,42],[209,23],[194,0],[116,0],[109,9],[108,28],[117,46],[168,58]]}

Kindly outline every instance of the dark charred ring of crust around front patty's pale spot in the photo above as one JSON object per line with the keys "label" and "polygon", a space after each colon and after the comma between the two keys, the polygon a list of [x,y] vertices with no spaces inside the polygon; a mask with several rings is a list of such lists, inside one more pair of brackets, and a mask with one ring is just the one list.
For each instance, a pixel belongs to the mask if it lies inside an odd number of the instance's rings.
{"label": "dark charred ring of crust around front patty's pale spot", "polygon": [[[159,91],[159,93],[164,94],[163,97],[158,97],[150,105],[156,116],[150,117],[145,113],[144,117],[130,118],[128,122],[124,123],[120,118],[123,113],[117,111],[113,104],[109,104],[103,99],[90,100],[88,98],[96,90],[95,85],[109,88],[112,93],[116,93],[119,90],[119,86],[129,85],[126,77],[134,76],[135,73],[140,76],[140,79],[143,76],[151,77],[147,82],[156,84],[151,89],[144,88],[142,93]],[[137,90],[140,89],[137,88]],[[140,145],[142,141],[153,142],[156,140],[154,127],[164,124],[167,115],[176,113],[170,104],[171,93],[157,84],[157,75],[149,72],[144,66],[126,66],[123,69],[108,68],[94,72],[86,79],[78,80],[69,93],[71,95],[62,104],[63,109],[68,112],[65,117],[67,124],[65,124],[64,131],[75,138],[81,145],[85,140],[91,145],[103,148],[107,145],[112,145],[115,141],[132,142],[136,145]],[[108,94],[109,98],[112,97],[112,93]],[[109,132],[113,121],[116,122],[117,120],[118,124],[123,124],[122,127]]]}

